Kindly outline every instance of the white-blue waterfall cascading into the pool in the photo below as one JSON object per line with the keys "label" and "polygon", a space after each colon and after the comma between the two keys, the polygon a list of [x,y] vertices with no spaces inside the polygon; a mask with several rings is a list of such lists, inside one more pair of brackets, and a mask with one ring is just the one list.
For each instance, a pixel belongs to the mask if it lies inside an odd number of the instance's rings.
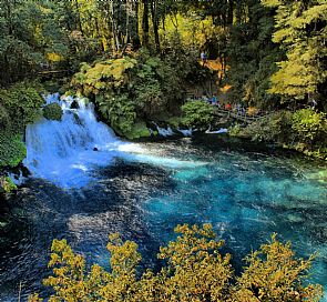
{"label": "white-blue waterfall cascading into the pool", "polygon": [[[94,167],[109,164],[115,157],[133,152],[133,144],[122,142],[113,131],[96,121],[92,103],[59,93],[48,95],[47,104],[60,104],[61,121],[42,118],[29,124],[25,132],[25,167],[33,177],[47,179],[63,188],[80,188],[94,177]],[[71,109],[76,102],[78,109]]]}

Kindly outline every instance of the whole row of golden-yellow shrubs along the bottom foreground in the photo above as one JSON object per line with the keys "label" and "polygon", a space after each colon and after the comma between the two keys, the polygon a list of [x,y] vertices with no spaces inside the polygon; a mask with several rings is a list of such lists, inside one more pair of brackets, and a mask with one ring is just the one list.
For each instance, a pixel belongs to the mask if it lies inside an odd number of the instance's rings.
{"label": "whole row of golden-yellow shrubs along the bottom foreground", "polygon": [[[75,254],[65,240],[54,240],[49,266],[53,275],[43,280],[53,289],[49,301],[129,302],[293,302],[318,301],[323,288],[305,285],[314,255],[296,259],[290,243],[272,236],[260,250],[245,260],[247,266],[233,283],[231,255],[222,255],[224,241],[217,241],[211,224],[177,225],[178,236],[160,250],[165,266],[154,273],[136,274],[141,261],[137,244],[109,236],[111,271],[98,264],[86,269],[85,259]],[[38,294],[30,302],[43,301]]]}

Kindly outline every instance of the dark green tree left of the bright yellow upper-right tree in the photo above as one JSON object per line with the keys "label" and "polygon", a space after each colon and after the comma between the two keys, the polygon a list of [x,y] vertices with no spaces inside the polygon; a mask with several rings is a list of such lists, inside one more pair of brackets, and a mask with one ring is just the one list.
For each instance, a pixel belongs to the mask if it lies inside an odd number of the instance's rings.
{"label": "dark green tree left of the bright yellow upper-right tree", "polygon": [[283,54],[272,42],[273,30],[273,10],[259,1],[248,3],[247,21],[233,24],[226,46],[231,101],[268,109],[278,104],[278,95],[267,93],[269,77],[276,71],[275,62]]}

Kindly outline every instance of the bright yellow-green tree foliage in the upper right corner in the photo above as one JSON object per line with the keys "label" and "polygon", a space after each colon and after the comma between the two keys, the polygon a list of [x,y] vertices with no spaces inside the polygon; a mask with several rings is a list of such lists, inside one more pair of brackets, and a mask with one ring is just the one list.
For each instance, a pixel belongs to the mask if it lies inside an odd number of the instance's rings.
{"label": "bright yellow-green tree foliage in the upper right corner", "polygon": [[[327,38],[326,1],[262,0],[276,8],[273,41],[280,43],[286,59],[278,62],[278,71],[270,78],[269,92],[293,99],[305,99],[320,93],[326,81]],[[325,101],[325,100],[323,100]]]}

